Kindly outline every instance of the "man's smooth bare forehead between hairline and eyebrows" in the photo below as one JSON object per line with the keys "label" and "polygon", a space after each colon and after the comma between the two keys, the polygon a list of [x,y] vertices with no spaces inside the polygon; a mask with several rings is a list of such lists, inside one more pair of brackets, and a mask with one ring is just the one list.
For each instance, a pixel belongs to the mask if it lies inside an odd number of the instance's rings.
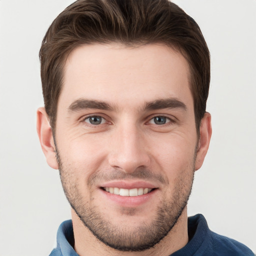
{"label": "man's smooth bare forehead between hairline and eyebrows", "polygon": [[66,60],[59,104],[67,106],[77,98],[112,101],[120,107],[164,97],[187,101],[188,77],[186,59],[166,45],[82,45]]}

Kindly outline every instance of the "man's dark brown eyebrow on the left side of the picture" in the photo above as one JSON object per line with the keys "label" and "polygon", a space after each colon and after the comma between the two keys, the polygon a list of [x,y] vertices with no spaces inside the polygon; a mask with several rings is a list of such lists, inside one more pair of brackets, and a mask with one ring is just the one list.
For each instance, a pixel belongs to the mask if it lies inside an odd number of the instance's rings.
{"label": "man's dark brown eyebrow on the left side of the picture", "polygon": [[82,109],[87,109],[87,108],[95,108],[95,109],[102,109],[102,110],[113,110],[114,107],[110,106],[108,103],[104,101],[99,101],[95,99],[84,99],[84,98],[79,98],[73,101],[69,107],[68,111],[69,112],[74,112],[74,111],[79,111]]}

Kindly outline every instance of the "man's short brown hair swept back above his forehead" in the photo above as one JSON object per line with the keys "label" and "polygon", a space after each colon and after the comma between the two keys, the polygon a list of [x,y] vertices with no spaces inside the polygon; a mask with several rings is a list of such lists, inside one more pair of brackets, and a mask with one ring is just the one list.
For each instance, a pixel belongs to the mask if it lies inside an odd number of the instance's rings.
{"label": "man's short brown hair swept back above his forehead", "polygon": [[54,19],[39,52],[44,105],[53,131],[68,54],[81,44],[110,42],[160,42],[185,56],[198,131],[209,89],[209,51],[197,23],[168,0],[77,0]]}

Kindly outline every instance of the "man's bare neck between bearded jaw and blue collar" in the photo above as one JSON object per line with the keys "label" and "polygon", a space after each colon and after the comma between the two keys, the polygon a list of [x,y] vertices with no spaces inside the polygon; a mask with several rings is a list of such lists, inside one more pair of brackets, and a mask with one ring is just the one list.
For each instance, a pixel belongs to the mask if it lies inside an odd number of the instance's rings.
{"label": "man's bare neck between bearded jaw and blue collar", "polygon": [[119,251],[105,245],[103,242],[99,241],[87,227],[84,226],[80,218],[73,210],[71,210],[71,215],[75,240],[74,249],[80,256],[166,256],[182,248],[188,242],[186,207],[184,208],[176,224],[160,242],[155,244],[150,249],[138,252]]}

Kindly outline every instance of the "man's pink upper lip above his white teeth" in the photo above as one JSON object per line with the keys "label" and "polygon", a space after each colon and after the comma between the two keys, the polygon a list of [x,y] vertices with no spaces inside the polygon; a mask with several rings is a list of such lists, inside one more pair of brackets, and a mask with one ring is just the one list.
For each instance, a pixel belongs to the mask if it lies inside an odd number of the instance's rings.
{"label": "man's pink upper lip above his white teeth", "polygon": [[148,181],[143,180],[113,180],[108,181],[105,183],[100,184],[100,187],[119,187],[119,188],[126,188],[126,189],[132,189],[132,188],[157,188],[156,185],[152,184]]}

